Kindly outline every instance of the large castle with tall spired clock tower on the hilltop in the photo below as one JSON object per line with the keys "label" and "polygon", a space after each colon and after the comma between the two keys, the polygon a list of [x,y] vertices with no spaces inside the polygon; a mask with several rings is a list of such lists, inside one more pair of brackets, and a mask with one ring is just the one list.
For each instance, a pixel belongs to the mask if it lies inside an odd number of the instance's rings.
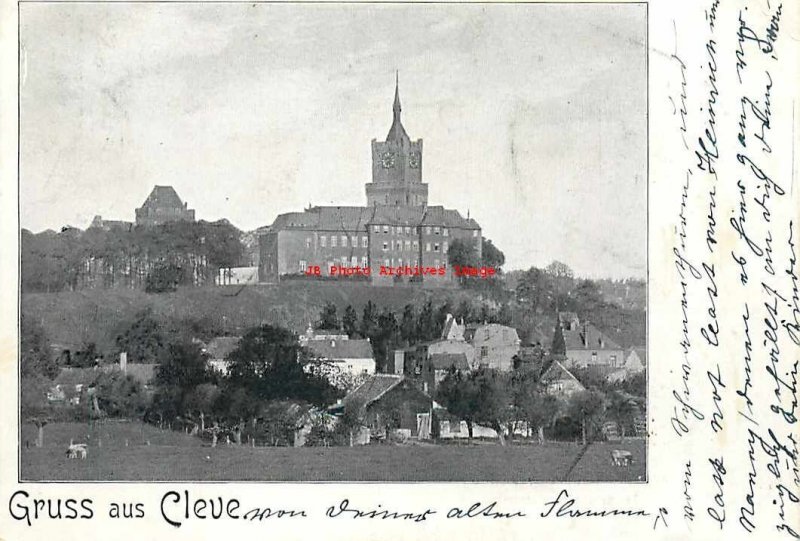
{"label": "large castle with tall spired clock tower on the hilltop", "polygon": [[[392,126],[385,141],[372,141],[372,182],[366,184],[367,206],[313,206],[280,214],[259,237],[259,280],[277,282],[304,276],[319,267],[330,276],[336,267],[369,268],[374,284],[421,282],[456,284],[448,266],[450,244],[462,239],[480,257],[478,223],[457,210],[428,205],[422,181],[422,139],[412,141],[400,118],[395,84]],[[381,266],[445,268],[443,273],[381,275]],[[333,274],[334,276],[336,274]]]}

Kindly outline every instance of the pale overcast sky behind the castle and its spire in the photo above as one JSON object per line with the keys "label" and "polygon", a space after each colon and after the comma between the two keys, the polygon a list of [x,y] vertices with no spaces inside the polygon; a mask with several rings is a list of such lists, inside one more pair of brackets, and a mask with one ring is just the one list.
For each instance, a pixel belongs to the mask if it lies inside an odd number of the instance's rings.
{"label": "pale overcast sky behind the castle and its spire", "polygon": [[133,220],[155,184],[250,230],[364,205],[370,140],[424,140],[429,203],[506,268],[646,272],[642,5],[22,3],[33,231]]}

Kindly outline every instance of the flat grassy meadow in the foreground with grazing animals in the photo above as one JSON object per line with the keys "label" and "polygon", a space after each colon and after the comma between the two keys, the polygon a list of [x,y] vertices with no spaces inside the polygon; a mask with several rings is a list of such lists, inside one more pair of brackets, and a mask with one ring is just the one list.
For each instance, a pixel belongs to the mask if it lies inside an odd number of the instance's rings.
{"label": "flat grassy meadow in the foreground with grazing animals", "polygon": [[[87,432],[86,424],[58,423],[47,426],[44,447],[22,448],[22,478],[330,482],[635,482],[645,479],[644,440],[595,443],[580,456],[581,446],[574,443],[505,447],[493,442],[480,442],[473,445],[369,445],[297,449],[224,445],[210,448],[198,438],[161,431],[140,423],[108,422],[96,427],[89,439]],[[35,428],[24,426],[22,441],[32,442],[34,438]],[[70,439],[75,442],[88,441],[89,456],[86,460],[68,460],[64,456]],[[631,451],[633,465],[627,468],[612,466],[611,449]],[[573,467],[576,460],[577,464]]]}

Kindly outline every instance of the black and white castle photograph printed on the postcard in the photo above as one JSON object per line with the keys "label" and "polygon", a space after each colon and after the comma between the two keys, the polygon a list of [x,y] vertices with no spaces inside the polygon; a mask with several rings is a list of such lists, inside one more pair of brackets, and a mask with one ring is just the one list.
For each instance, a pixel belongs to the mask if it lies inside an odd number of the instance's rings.
{"label": "black and white castle photograph printed on the postcard", "polygon": [[643,3],[19,6],[19,480],[648,483]]}

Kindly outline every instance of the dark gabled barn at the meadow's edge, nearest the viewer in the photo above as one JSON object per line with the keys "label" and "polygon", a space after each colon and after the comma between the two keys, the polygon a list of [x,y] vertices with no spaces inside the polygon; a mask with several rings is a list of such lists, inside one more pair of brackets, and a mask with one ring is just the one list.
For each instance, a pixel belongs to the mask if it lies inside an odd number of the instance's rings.
{"label": "dark gabled barn at the meadow's edge, nearest the viewer", "polygon": [[433,400],[405,376],[375,374],[345,396],[336,409],[355,412],[373,438],[385,438],[398,430],[414,439],[431,437]]}

